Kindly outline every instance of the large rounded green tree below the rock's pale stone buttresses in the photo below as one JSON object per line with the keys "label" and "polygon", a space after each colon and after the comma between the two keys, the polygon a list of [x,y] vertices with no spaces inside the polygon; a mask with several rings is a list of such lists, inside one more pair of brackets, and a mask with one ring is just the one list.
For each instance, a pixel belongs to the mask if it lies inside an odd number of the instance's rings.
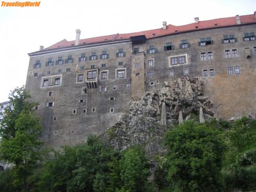
{"label": "large rounded green tree below the rock's pale stone buttresses", "polygon": [[185,121],[165,134],[168,147],[167,180],[174,191],[222,190],[224,145],[219,129]]}

